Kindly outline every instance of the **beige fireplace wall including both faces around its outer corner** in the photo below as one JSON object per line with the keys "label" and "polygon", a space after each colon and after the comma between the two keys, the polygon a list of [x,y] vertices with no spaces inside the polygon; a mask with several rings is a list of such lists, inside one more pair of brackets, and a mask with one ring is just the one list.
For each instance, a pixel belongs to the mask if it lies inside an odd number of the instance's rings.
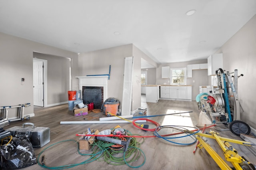
{"label": "beige fireplace wall including both faces around its outer corner", "polygon": [[111,65],[108,97],[116,98],[120,102],[119,109],[122,109],[124,58],[132,56],[134,57],[134,65],[131,111],[136,111],[141,104],[141,58],[148,59],[152,65],[157,64],[133,44],[80,53],[78,57],[79,74],[77,76],[108,74],[109,65]]}

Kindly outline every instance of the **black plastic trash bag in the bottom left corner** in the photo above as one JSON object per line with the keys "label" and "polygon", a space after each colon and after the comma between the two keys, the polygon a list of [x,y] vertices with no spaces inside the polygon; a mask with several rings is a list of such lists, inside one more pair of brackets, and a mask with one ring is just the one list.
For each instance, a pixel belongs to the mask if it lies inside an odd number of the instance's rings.
{"label": "black plastic trash bag in the bottom left corner", "polygon": [[[0,150],[0,166],[3,170],[20,169],[36,164],[36,156],[26,136],[3,140]],[[6,145],[7,144],[7,145]]]}

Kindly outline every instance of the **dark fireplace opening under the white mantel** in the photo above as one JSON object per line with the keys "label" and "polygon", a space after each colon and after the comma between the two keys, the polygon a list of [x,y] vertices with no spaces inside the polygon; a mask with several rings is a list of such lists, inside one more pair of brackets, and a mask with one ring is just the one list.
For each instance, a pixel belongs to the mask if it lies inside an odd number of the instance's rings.
{"label": "dark fireplace opening under the white mantel", "polygon": [[101,109],[103,104],[103,87],[92,87],[83,86],[82,87],[82,97],[84,104],[94,104],[94,109]]}

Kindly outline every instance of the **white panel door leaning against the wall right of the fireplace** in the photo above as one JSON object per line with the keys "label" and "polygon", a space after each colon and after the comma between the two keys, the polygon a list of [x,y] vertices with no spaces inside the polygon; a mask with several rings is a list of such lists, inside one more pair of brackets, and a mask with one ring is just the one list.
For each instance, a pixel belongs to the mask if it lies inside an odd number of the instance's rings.
{"label": "white panel door leaning against the wall right of the fireplace", "polygon": [[125,57],[124,61],[124,87],[121,115],[130,115],[132,107],[132,73],[133,57]]}

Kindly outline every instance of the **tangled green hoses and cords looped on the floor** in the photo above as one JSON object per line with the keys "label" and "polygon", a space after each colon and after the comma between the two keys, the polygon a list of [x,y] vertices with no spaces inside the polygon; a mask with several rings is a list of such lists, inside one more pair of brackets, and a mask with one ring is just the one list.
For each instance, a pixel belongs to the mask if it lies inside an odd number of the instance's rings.
{"label": "tangled green hoses and cords looped on the floor", "polygon": [[[130,133],[130,135],[132,135]],[[97,142],[94,142],[92,144],[92,151],[94,150],[94,148],[96,148],[92,154],[82,154],[79,151],[79,145],[78,142],[76,140],[62,140],[60,142],[56,142],[54,144],[51,144],[50,146],[44,148],[44,150],[42,150],[40,152],[40,154],[38,155],[37,158],[37,162],[41,167],[44,168],[48,168],[48,169],[67,169],[67,168],[72,168],[78,165],[82,165],[82,164],[88,164],[90,162],[93,162],[94,160],[97,161],[104,161],[107,162],[108,164],[112,164],[112,165],[124,165],[126,164],[127,166],[131,167],[131,168],[139,168],[141,166],[143,166],[146,162],[146,156],[144,154],[144,152],[139,148],[140,144],[142,144],[144,142],[144,138],[143,141],[137,142],[136,138],[132,138],[128,147],[128,150],[126,152],[123,151],[123,148],[116,148],[116,149],[112,149],[111,146],[114,145],[113,143],[109,143],[109,142],[105,142],[102,140],[98,140]],[[77,143],[78,146],[78,153],[82,156],[90,156],[90,158],[88,158],[87,160],[78,163],[78,164],[68,164],[68,165],[63,165],[63,166],[55,166],[55,167],[49,167],[46,166],[43,162],[39,162],[39,158],[42,155],[42,153],[49,149],[50,147],[60,144],[62,142],[68,142],[68,141],[73,141]],[[137,161],[140,156],[143,155],[144,156],[144,161],[142,162],[142,164],[140,164],[139,166],[130,166],[129,163]],[[100,159],[102,158],[102,159]]]}

